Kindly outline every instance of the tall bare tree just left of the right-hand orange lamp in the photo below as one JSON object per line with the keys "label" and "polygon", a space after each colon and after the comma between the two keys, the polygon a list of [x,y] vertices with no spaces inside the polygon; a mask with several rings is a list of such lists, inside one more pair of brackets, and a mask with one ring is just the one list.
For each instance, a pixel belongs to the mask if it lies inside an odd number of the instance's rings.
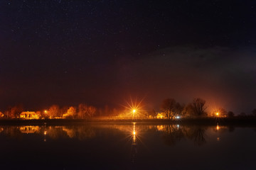
{"label": "tall bare tree just left of the right-hand orange lamp", "polygon": [[191,103],[193,114],[196,116],[206,115],[206,101],[202,98],[194,98]]}

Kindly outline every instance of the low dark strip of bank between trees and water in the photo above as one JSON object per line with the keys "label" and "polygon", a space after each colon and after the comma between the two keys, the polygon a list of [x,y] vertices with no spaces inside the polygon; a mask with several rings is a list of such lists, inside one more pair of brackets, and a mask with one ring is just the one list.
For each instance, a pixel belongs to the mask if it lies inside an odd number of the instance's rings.
{"label": "low dark strip of bank between trees and water", "polygon": [[178,120],[168,119],[134,119],[134,120],[117,120],[117,119],[100,119],[90,120],[81,119],[39,119],[39,120],[21,120],[10,119],[0,120],[0,125],[78,125],[86,123],[113,123],[113,124],[179,124],[179,125],[238,125],[238,126],[256,126],[256,117],[234,117],[234,118],[183,118]]}

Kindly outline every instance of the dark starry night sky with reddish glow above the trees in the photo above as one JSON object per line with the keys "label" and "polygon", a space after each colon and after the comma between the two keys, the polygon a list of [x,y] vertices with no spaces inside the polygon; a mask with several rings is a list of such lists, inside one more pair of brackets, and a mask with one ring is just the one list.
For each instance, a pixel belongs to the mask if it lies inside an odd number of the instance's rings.
{"label": "dark starry night sky with reddish glow above the trees", "polygon": [[0,1],[0,110],[164,98],[256,108],[256,1]]}

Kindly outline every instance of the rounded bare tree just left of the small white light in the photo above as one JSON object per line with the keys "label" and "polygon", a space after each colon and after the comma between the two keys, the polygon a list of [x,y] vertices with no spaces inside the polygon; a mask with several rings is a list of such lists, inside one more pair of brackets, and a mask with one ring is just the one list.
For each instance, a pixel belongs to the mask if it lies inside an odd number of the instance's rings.
{"label": "rounded bare tree just left of the small white light", "polygon": [[169,118],[169,119],[174,118],[176,114],[175,108],[176,108],[176,101],[174,100],[174,98],[166,98],[161,104],[161,111],[163,111],[164,114],[166,115],[166,118]]}

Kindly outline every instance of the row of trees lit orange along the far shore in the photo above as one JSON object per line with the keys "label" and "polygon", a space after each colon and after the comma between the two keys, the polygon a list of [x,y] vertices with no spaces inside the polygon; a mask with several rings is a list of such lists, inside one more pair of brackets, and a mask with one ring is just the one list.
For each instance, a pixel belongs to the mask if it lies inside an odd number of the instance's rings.
{"label": "row of trees lit orange along the far shore", "polygon": [[[224,108],[217,108],[214,111],[208,112],[208,106],[206,105],[206,100],[203,98],[194,98],[191,103],[181,104],[174,98],[166,98],[161,102],[159,111],[161,115],[164,115],[167,119],[174,119],[177,117],[182,118],[199,118],[199,117],[228,117],[232,118],[235,114],[232,111],[226,111]],[[3,113],[0,111],[0,118],[20,118],[20,114],[25,111],[23,106],[17,105],[14,107],[9,107]],[[130,111],[126,111],[130,112]],[[95,106],[90,106],[85,103],[80,103],[78,106],[64,106],[60,107],[58,105],[53,105],[46,110],[36,111],[36,115],[39,118],[69,118],[69,119],[89,119],[92,117],[104,117],[104,118],[121,118],[119,115],[125,115],[126,113],[122,108],[110,108],[105,106],[104,108],[95,108]],[[156,118],[159,112],[153,111],[139,111],[136,118]],[[245,116],[256,116],[256,108],[252,110],[250,115],[245,113],[240,113],[238,117]],[[127,118],[122,116],[122,118]]]}

